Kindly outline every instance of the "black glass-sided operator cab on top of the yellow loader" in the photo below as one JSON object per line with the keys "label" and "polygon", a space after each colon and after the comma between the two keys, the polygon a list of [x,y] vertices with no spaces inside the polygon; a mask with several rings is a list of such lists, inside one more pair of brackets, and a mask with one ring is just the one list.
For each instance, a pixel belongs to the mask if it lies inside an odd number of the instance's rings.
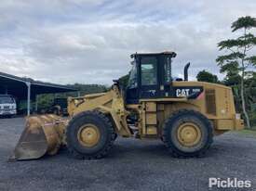
{"label": "black glass-sided operator cab on top of the yellow loader", "polygon": [[137,104],[142,98],[172,96],[171,59],[174,52],[133,54],[126,101]]}

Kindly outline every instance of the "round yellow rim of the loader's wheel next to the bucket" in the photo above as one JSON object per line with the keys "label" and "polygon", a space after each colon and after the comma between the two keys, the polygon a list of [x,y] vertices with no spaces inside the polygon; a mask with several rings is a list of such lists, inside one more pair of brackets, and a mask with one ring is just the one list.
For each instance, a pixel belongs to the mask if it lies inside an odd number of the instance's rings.
{"label": "round yellow rim of the loader's wheel next to the bucket", "polygon": [[96,146],[101,138],[99,128],[93,124],[82,126],[77,134],[79,143],[83,146],[92,147]]}

